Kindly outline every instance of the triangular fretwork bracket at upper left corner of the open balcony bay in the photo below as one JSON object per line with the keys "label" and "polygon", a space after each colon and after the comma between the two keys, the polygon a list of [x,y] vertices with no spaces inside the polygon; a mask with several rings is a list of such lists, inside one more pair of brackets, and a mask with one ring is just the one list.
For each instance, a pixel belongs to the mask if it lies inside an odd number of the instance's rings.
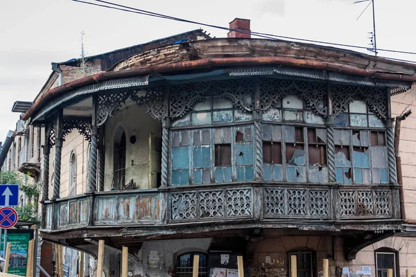
{"label": "triangular fretwork bracket at upper left corner of the open balcony bay", "polygon": [[118,91],[98,95],[97,126],[103,125],[108,117],[119,110],[128,100],[130,91]]}

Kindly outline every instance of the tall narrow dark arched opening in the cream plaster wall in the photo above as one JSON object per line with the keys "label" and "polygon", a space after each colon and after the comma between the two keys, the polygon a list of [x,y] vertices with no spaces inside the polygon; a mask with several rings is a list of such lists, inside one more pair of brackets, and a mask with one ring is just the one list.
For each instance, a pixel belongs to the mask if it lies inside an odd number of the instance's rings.
{"label": "tall narrow dark arched opening in the cream plaster wall", "polygon": [[125,186],[125,132],[119,127],[114,136],[114,177],[112,188],[121,190]]}

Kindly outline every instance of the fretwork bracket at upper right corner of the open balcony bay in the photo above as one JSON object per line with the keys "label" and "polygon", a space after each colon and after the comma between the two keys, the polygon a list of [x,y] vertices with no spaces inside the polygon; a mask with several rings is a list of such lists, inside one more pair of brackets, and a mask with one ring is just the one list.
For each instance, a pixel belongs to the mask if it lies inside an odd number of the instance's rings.
{"label": "fretwork bracket at upper right corner of the open balcony bay", "polygon": [[134,92],[131,99],[139,106],[144,107],[146,114],[155,119],[167,116],[168,111],[164,105],[164,87],[153,87],[144,91]]}

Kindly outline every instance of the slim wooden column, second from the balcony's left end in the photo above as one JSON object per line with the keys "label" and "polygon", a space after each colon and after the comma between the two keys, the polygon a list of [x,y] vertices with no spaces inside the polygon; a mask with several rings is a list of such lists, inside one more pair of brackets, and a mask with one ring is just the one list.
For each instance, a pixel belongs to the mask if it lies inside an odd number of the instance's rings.
{"label": "slim wooden column, second from the balcony's left end", "polygon": [[55,175],[53,178],[53,197],[58,199],[60,197],[60,169],[61,169],[61,153],[62,153],[62,123],[63,114],[62,109],[58,111],[58,116],[55,121]]}

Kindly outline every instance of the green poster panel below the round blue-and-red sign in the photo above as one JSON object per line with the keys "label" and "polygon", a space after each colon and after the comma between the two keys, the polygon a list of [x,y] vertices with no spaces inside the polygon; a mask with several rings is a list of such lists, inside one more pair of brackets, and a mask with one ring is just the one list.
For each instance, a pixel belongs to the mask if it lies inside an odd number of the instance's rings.
{"label": "green poster panel below the round blue-and-red sign", "polygon": [[[11,243],[9,274],[26,276],[26,266],[28,262],[29,240],[33,238],[33,230],[14,230],[9,229],[7,242]],[[3,256],[4,233],[1,233],[0,256]]]}

